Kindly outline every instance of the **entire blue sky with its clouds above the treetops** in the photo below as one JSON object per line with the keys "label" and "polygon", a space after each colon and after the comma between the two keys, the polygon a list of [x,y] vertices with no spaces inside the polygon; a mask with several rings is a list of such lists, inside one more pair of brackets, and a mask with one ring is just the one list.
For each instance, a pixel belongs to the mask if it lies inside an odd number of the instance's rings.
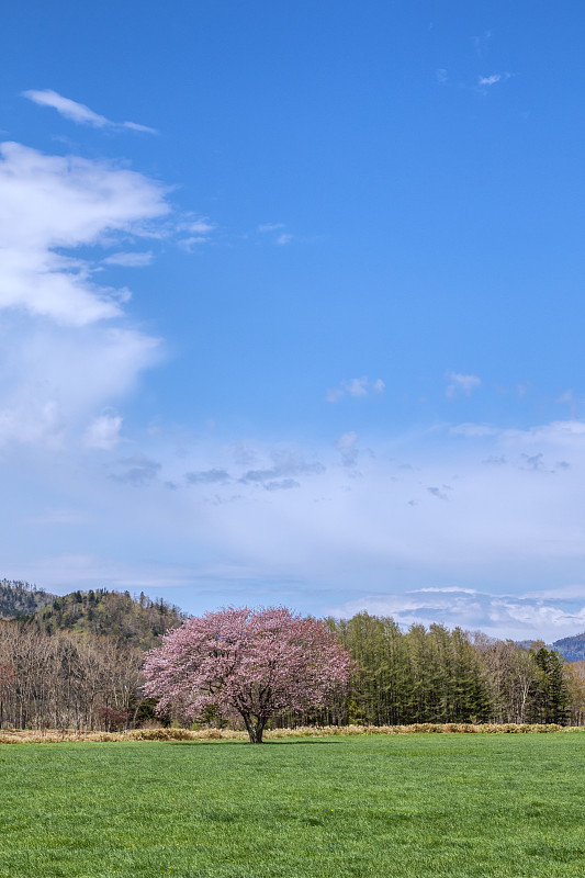
{"label": "entire blue sky with its clouds above the treetops", "polygon": [[584,24],[7,9],[2,575],[585,629]]}

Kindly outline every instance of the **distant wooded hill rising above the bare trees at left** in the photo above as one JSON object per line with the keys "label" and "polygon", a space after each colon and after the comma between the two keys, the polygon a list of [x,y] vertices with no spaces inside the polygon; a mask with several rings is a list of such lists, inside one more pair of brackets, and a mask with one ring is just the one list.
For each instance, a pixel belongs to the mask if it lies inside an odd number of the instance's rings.
{"label": "distant wooded hill rising above the bare trees at left", "polygon": [[133,598],[128,592],[97,588],[58,597],[27,583],[0,582],[0,619],[34,624],[47,634],[88,631],[148,650],[185,618],[178,607],[144,594]]}

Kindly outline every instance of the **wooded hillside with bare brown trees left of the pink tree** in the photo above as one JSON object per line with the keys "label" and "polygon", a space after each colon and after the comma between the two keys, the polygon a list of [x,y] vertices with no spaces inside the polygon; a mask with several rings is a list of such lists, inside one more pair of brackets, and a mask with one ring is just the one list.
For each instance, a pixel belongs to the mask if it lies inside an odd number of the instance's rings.
{"label": "wooded hillside with bare brown trees left of the pink tree", "polygon": [[123,728],[153,718],[145,650],[185,618],[165,600],[103,588],[55,597],[3,584],[0,728]]}

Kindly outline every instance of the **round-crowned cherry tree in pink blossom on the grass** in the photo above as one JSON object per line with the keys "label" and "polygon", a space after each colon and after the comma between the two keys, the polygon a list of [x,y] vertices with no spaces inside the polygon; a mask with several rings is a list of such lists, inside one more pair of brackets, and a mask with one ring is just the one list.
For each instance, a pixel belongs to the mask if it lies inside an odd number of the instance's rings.
{"label": "round-crowned cherry tree in pink blossom on the grass", "polygon": [[145,690],[160,699],[158,711],[175,705],[194,718],[214,706],[225,718],[239,714],[260,744],[270,717],[323,706],[353,666],[322,621],[286,607],[227,607],[188,619],[150,650]]}

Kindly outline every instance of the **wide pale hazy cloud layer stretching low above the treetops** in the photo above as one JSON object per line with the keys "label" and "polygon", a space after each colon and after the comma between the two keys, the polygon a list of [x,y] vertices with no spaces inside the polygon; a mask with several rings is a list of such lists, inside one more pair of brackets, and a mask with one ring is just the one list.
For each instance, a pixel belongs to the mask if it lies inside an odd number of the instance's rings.
{"label": "wide pale hazy cloud layer stretching low above the treetops", "polygon": [[[65,406],[66,414],[70,408]],[[90,407],[82,430],[103,414],[103,404]],[[67,431],[67,418],[59,420],[54,410],[46,416],[54,430],[60,425]],[[110,427],[113,437],[115,425]],[[57,442],[54,457],[46,458],[45,443],[44,460],[56,461],[59,497],[48,468],[41,468],[34,506],[79,508],[95,524],[60,545],[48,538],[35,543],[33,556],[19,524],[19,504],[30,516],[31,495],[23,498],[22,485],[15,489],[19,468],[4,466],[4,491],[13,498],[0,507],[10,548],[7,571],[31,575],[32,562],[45,556],[50,576],[60,569],[52,553],[64,551],[106,559],[116,534],[127,571],[108,582],[126,587],[122,581],[138,581],[146,559],[159,566],[176,563],[198,584],[184,601],[177,598],[191,608],[254,596],[313,612],[365,606],[405,624],[445,621],[516,638],[556,638],[585,628],[585,425],[368,437],[375,453],[359,458],[363,440],[355,431],[311,447],[271,449],[248,439],[245,455],[211,434],[180,450],[173,436],[165,437],[159,431],[134,438],[126,457],[109,464],[111,452],[104,450],[103,460],[88,458],[89,466],[60,453]],[[486,465],[490,458],[500,465]],[[560,468],[560,460],[569,466]],[[103,563],[95,571],[102,569]],[[212,576],[211,570],[223,573]],[[35,578],[46,584],[38,572]],[[328,589],[330,597],[324,597]],[[569,599],[571,606],[563,604]]]}

